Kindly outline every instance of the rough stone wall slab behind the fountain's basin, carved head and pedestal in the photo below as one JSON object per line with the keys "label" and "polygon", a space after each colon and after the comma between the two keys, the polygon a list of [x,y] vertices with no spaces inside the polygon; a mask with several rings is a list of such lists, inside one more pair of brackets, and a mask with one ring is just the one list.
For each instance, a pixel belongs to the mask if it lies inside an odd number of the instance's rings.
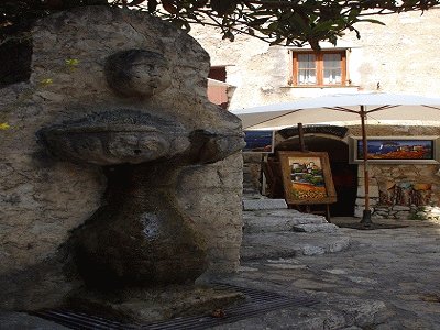
{"label": "rough stone wall slab behind the fountain's basin, carved head and pedestal", "polygon": [[[101,206],[106,189],[98,166],[52,157],[37,139],[42,128],[132,109],[213,135],[240,131],[237,118],[207,99],[208,54],[155,18],[89,7],[38,21],[31,36],[30,80],[0,89],[0,123],[8,124],[0,130],[0,306],[9,309],[57,305],[72,289],[59,248]],[[117,95],[106,81],[106,58],[131,48],[163,54],[172,86],[151,98]],[[191,165],[179,180],[180,207],[208,244],[208,273],[239,264],[241,168],[235,154]]]}

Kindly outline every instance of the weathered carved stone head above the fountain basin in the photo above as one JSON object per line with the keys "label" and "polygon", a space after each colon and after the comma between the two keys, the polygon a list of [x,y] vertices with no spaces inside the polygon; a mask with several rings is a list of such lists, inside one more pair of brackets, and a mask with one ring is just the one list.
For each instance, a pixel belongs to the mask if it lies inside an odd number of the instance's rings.
{"label": "weathered carved stone head above the fountain basin", "polygon": [[105,72],[109,86],[127,97],[151,97],[172,84],[168,61],[160,53],[145,50],[110,55]]}

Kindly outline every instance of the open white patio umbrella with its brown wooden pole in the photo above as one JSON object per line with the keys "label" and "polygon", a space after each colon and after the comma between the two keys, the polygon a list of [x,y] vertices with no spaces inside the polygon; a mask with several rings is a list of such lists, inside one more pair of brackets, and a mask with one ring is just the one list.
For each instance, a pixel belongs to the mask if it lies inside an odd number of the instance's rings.
{"label": "open white patio umbrella with its brown wooden pole", "polygon": [[398,94],[341,94],[293,102],[231,110],[244,130],[279,130],[297,123],[356,121],[362,127],[365,209],[362,221],[371,221],[365,121],[418,121],[440,124],[440,98]]}

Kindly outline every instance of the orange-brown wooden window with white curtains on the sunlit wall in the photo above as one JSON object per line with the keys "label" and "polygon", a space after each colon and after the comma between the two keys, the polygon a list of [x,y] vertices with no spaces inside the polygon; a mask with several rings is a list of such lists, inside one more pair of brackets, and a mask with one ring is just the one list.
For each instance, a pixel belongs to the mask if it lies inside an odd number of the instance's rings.
{"label": "orange-brown wooden window with white curtains on the sunlit wall", "polygon": [[294,52],[294,86],[344,86],[345,51]]}

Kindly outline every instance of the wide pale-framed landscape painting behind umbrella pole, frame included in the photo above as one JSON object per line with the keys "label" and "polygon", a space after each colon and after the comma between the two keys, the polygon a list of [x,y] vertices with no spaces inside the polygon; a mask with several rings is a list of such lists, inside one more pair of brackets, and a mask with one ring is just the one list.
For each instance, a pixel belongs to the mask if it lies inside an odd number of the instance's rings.
{"label": "wide pale-framed landscape painting behind umbrella pole, frame included", "polygon": [[[438,164],[439,136],[367,136],[369,163]],[[350,163],[363,163],[360,136],[349,139]]]}

